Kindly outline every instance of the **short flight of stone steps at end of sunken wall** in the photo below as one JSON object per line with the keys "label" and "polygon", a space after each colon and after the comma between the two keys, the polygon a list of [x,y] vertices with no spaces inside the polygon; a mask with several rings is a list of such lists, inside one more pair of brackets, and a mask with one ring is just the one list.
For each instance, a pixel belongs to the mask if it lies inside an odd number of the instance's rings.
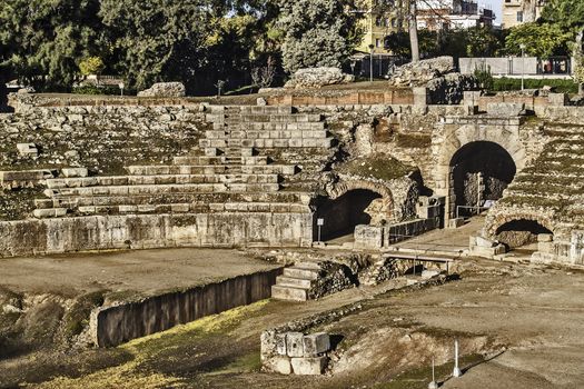
{"label": "short flight of stone steps at end of sunken wall", "polygon": [[283,276],[276,279],[271,287],[271,298],[286,301],[306,301],[310,298],[310,289],[319,278],[320,267],[317,263],[299,262],[285,268]]}

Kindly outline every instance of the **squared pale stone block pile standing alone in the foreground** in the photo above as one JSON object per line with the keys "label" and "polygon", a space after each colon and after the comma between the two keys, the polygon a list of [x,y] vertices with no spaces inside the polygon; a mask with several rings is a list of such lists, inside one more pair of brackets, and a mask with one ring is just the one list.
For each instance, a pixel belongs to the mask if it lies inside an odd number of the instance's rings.
{"label": "squared pale stone block pile standing alone in the foreground", "polygon": [[261,362],[264,370],[280,375],[319,376],[328,366],[331,350],[328,333],[264,331]]}

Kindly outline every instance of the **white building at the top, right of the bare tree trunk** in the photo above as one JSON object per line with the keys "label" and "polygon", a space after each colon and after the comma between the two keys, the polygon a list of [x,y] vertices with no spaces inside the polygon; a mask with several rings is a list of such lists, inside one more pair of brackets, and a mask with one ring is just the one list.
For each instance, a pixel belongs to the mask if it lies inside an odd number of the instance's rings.
{"label": "white building at the top, right of the bare tree trunk", "polygon": [[418,29],[430,31],[493,27],[495,13],[475,0],[427,0],[418,6]]}

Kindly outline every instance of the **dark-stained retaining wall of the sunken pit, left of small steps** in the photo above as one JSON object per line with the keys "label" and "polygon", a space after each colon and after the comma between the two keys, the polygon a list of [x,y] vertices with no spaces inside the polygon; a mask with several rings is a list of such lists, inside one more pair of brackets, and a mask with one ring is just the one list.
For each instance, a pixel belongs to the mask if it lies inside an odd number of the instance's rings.
{"label": "dark-stained retaining wall of the sunken pit, left of small steps", "polygon": [[267,299],[281,268],[239,276],[138,302],[101,308],[92,313],[92,338],[99,347],[165,331],[209,315]]}

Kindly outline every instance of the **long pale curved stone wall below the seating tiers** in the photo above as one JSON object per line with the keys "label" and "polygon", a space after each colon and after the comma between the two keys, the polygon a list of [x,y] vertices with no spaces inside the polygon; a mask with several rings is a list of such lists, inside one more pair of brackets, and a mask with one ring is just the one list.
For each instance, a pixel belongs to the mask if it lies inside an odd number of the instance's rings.
{"label": "long pale curved stone wall below the seating tiers", "polygon": [[170,247],[308,247],[311,213],[96,216],[0,223],[0,257]]}

